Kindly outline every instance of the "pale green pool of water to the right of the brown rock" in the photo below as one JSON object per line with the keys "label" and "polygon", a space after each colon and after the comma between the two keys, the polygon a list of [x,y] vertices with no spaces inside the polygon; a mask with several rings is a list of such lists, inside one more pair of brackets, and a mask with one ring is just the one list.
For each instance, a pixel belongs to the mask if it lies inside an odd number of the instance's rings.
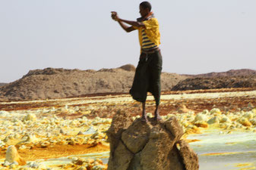
{"label": "pale green pool of water to the right of the brown rock", "polygon": [[205,131],[189,135],[188,139],[200,140],[190,143],[198,153],[200,169],[256,169],[256,134],[253,132]]}

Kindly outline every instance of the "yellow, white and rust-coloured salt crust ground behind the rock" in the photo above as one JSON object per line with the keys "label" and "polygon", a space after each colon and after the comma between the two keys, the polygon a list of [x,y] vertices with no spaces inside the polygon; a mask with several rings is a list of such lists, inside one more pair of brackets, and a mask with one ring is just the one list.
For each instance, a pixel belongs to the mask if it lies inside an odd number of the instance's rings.
{"label": "yellow, white and rust-coloured salt crust ground behind the rock", "polygon": [[[206,128],[254,133],[255,97],[256,91],[166,94],[162,96],[162,116],[177,116],[186,134]],[[152,116],[153,98],[148,99],[147,115]],[[40,165],[52,157],[109,150],[105,134],[109,118],[117,110],[125,110],[136,119],[140,107],[128,95],[0,103],[0,159],[5,160],[10,145],[15,145],[27,162],[37,160]],[[60,148],[65,153],[59,152]],[[66,168],[72,165],[83,166],[73,162]]]}

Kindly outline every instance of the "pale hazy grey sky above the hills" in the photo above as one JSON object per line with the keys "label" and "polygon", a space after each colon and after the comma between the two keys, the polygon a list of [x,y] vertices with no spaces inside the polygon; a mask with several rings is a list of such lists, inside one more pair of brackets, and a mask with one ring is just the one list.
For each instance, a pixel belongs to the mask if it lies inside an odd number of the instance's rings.
{"label": "pale hazy grey sky above the hills", "polygon": [[[99,70],[137,65],[137,31],[113,21],[140,17],[132,0],[0,0],[0,82],[46,67]],[[255,0],[152,0],[163,71],[256,70]]]}

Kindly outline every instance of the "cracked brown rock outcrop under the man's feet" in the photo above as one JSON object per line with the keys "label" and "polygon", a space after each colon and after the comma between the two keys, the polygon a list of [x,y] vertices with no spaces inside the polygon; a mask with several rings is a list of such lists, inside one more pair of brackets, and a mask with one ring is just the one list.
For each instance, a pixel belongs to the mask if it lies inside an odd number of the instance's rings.
{"label": "cracked brown rock outcrop under the man's feet", "polygon": [[194,170],[198,156],[181,140],[183,130],[172,116],[167,121],[142,122],[119,111],[107,131],[109,170]]}

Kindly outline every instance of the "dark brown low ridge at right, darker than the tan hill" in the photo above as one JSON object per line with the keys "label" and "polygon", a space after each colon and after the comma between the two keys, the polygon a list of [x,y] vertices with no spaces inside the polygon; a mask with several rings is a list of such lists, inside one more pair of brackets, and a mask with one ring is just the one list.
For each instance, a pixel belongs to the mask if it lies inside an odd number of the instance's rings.
{"label": "dark brown low ridge at right, darker than the tan hill", "polygon": [[172,88],[172,91],[216,89],[216,88],[256,88],[256,75],[197,77],[185,79]]}

